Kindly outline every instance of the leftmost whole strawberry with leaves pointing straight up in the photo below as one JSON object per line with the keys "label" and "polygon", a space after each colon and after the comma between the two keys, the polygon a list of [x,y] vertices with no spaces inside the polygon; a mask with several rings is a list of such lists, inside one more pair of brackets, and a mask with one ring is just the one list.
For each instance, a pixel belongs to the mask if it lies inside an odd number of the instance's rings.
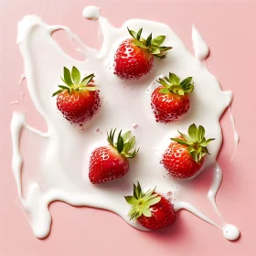
{"label": "leftmost whole strawberry with leaves pointing straight up", "polygon": [[94,78],[91,74],[80,80],[80,71],[73,67],[71,73],[64,68],[64,79],[61,80],[65,85],[59,85],[59,91],[52,96],[57,96],[57,107],[63,116],[70,123],[82,125],[100,109],[100,95],[98,87],[90,82]]}

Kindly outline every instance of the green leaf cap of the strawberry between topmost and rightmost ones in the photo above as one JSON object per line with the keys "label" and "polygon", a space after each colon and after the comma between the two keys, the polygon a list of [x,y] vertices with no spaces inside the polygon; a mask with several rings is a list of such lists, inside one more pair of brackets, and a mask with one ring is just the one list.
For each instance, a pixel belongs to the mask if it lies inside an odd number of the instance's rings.
{"label": "green leaf cap of the strawberry between topmost and rightmost ones", "polygon": [[180,81],[179,77],[176,74],[169,72],[169,77],[166,76],[157,80],[164,88],[160,89],[159,92],[166,94],[169,92],[185,95],[194,90],[194,83],[192,77],[188,77],[185,80]]}

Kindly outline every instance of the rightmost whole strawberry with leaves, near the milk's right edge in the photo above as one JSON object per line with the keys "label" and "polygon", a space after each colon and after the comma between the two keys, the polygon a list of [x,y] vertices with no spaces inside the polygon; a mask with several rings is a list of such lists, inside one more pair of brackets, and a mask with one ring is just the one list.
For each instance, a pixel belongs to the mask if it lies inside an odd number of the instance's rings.
{"label": "rightmost whole strawberry with leaves, near the milk's right edge", "polygon": [[209,155],[207,145],[215,139],[205,138],[205,128],[197,128],[193,123],[188,128],[188,135],[180,133],[165,151],[161,163],[174,177],[187,178],[193,176],[204,163],[205,155]]}

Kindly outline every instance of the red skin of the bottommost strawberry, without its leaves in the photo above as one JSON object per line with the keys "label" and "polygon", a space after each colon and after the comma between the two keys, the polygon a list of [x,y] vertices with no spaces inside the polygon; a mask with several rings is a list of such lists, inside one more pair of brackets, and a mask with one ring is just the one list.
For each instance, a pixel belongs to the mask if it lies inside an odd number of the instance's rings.
{"label": "red skin of the bottommost strawberry, without its leaves", "polygon": [[174,223],[176,220],[176,212],[172,203],[165,197],[159,196],[161,200],[152,206],[152,217],[142,215],[137,219],[144,228],[162,229]]}

